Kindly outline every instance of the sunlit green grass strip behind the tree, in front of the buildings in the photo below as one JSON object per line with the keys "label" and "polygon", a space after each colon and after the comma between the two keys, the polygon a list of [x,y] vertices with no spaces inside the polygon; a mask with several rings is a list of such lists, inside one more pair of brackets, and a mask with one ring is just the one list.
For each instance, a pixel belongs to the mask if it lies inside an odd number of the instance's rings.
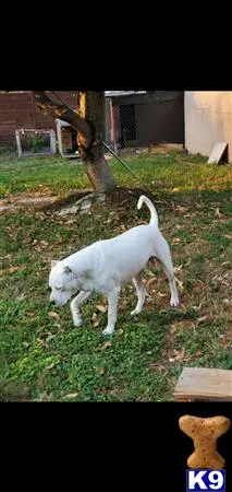
{"label": "sunlit green grass strip behind the tree, in front of the buildings", "polygon": [[[169,155],[137,155],[126,157],[126,163],[150,188],[158,194],[174,195],[188,192],[196,196],[208,191],[230,189],[231,167],[212,167],[199,157],[187,159],[185,155],[170,153]],[[110,161],[115,180],[120,186],[137,186],[122,165]],[[50,191],[64,196],[71,189],[89,188],[89,181],[83,172],[80,160],[63,160],[62,157],[27,157],[0,159],[0,197],[17,192]],[[208,197],[210,199],[210,195]]]}

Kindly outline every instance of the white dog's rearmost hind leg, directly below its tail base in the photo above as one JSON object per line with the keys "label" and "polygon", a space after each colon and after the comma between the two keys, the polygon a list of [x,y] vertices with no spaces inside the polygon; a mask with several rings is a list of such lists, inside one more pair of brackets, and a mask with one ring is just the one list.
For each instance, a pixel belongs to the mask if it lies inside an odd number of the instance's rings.
{"label": "white dog's rearmost hind leg, directly below its tail base", "polygon": [[156,257],[161,262],[164,273],[169,280],[169,286],[171,291],[170,304],[171,306],[176,307],[179,305],[179,294],[174,279],[174,268],[172,263],[170,247],[163,236],[160,236],[159,242],[157,242],[156,244]]}

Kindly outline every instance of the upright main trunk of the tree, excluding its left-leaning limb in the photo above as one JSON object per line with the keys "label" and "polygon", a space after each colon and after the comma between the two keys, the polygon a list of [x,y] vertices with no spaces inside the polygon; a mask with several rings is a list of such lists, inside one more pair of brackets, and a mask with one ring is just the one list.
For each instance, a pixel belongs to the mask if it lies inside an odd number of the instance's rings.
{"label": "upright main trunk of the tree, excluding its left-leaning limb", "polygon": [[80,92],[78,114],[90,125],[93,142],[87,145],[85,134],[77,133],[80,155],[95,191],[108,191],[114,188],[113,176],[105,159],[105,94],[103,92]]}

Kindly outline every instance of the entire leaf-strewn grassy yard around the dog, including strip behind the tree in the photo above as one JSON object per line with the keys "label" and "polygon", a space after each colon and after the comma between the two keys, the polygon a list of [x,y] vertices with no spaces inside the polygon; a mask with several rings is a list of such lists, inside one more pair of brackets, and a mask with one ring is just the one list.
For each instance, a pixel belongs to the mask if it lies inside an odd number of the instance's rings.
{"label": "entire leaf-strewn grassy yard around the dog, including strip behind the tree", "polygon": [[[95,204],[91,213],[52,210],[0,215],[0,400],[170,401],[182,368],[232,368],[232,166],[207,165],[182,153],[126,157],[151,189],[168,239],[181,306],[169,305],[159,265],[146,270],[154,302],[132,318],[134,288],[121,292],[117,330],[106,339],[106,300],[83,307],[84,326],[70,307],[49,305],[50,260],[148,220],[136,200]],[[137,187],[114,160],[120,186]],[[0,157],[0,198],[16,194],[65,196],[89,189],[83,166],[61,157]]]}

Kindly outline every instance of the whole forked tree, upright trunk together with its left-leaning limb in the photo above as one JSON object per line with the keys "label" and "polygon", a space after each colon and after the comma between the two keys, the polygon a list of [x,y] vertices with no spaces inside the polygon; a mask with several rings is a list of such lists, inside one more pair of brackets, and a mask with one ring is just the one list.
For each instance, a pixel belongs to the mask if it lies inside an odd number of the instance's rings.
{"label": "whole forked tree, upright trunk together with its left-leaning limb", "polygon": [[51,101],[44,91],[34,92],[38,108],[53,118],[68,121],[77,130],[81,159],[94,191],[108,191],[115,187],[113,176],[105,159],[105,93],[85,91],[78,93],[78,113],[64,104]]}

